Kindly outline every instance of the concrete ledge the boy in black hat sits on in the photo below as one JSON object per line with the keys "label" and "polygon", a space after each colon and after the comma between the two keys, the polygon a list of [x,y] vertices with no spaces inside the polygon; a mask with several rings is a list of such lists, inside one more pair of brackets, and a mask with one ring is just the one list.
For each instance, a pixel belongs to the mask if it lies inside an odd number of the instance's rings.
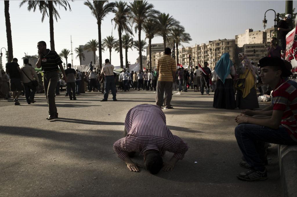
{"label": "concrete ledge the boy in black hat sits on", "polygon": [[297,196],[297,146],[278,145],[279,171],[283,194]]}

